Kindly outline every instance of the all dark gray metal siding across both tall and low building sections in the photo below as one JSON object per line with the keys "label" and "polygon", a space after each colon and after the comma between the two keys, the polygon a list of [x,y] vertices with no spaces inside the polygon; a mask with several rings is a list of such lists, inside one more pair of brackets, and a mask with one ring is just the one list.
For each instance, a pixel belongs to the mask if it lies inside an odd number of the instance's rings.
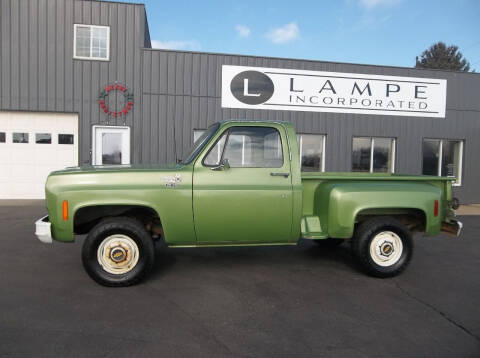
{"label": "all dark gray metal siding across both tall and low building sections", "polygon": [[[79,115],[79,161],[90,163],[91,127],[105,123],[97,104],[106,83],[126,84],[135,105],[132,162],[172,162],[193,140],[193,129],[222,119],[292,122],[298,132],[327,135],[326,170],[349,171],[353,136],[397,139],[396,172],[421,173],[423,138],[465,141],[465,202],[480,202],[480,75],[251,56],[151,50],[145,8],[90,0],[0,2],[0,110]],[[110,26],[108,62],[73,59],[73,24]],[[446,119],[221,108],[221,66],[245,65],[364,74],[445,78]],[[123,124],[123,119],[110,124]]]}

